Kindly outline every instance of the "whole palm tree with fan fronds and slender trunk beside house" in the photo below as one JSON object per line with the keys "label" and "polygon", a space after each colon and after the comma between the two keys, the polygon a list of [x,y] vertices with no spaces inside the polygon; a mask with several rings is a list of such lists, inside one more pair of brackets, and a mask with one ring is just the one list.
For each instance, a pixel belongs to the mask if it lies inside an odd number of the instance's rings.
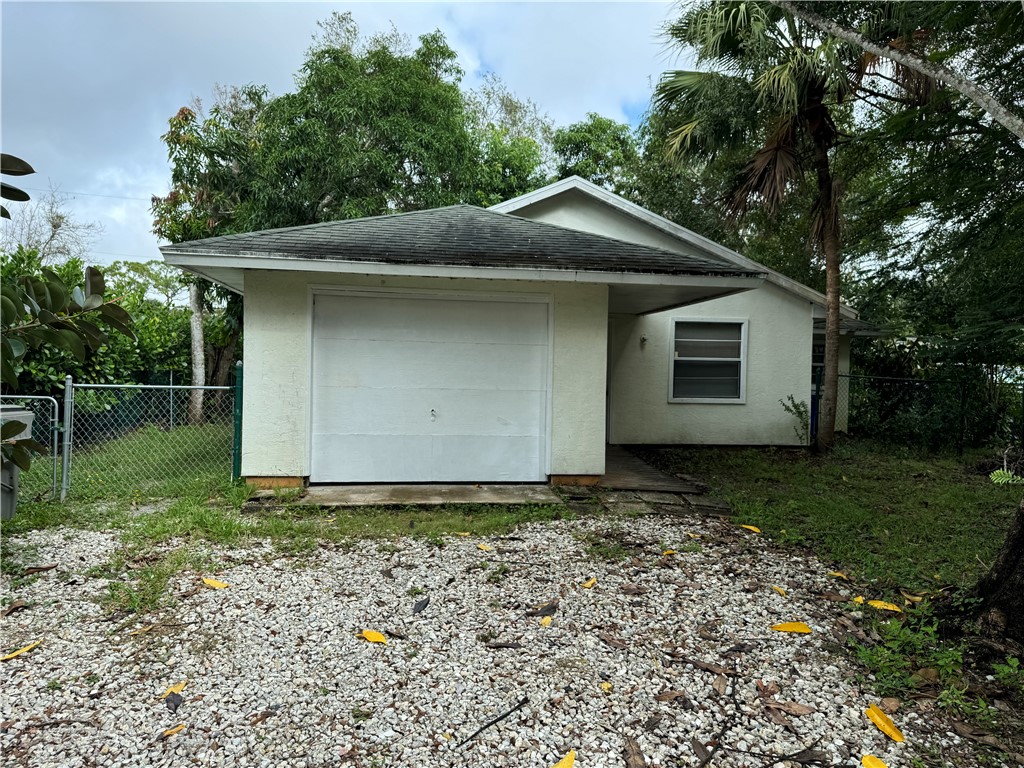
{"label": "whole palm tree with fan fronds and slender trunk beside house", "polygon": [[757,146],[725,201],[733,216],[779,209],[802,183],[814,188],[810,240],[825,263],[825,360],[818,446],[835,438],[840,339],[840,201],[833,173],[834,113],[854,91],[856,51],[822,38],[770,3],[712,0],[668,28],[673,44],[696,52],[699,71],[667,72],[655,108],[671,115],[670,161],[713,159]]}

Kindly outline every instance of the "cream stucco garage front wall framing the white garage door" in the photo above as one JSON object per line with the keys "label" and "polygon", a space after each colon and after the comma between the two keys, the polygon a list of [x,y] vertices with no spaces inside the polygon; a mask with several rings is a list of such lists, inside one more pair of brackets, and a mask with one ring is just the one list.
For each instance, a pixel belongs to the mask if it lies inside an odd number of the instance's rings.
{"label": "cream stucco garage front wall framing the white garage door", "polygon": [[311,286],[549,295],[553,330],[550,474],[603,474],[606,286],[250,271],[245,276],[243,475],[309,474]]}

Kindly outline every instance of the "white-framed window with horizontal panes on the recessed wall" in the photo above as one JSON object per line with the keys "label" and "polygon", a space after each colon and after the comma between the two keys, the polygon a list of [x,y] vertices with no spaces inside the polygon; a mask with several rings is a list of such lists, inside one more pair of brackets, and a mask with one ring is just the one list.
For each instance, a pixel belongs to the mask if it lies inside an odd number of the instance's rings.
{"label": "white-framed window with horizontal panes on the recessed wall", "polygon": [[670,400],[742,402],[746,323],[673,321]]}

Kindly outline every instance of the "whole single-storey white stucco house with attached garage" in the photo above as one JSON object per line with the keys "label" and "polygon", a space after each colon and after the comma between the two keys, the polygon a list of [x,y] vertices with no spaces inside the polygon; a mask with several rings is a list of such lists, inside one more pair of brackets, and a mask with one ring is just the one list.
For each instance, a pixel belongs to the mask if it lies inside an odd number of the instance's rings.
{"label": "whole single-storey white stucco house with attached garage", "polygon": [[161,251],[245,297],[257,485],[593,482],[608,443],[795,444],[779,400],[810,399],[823,326],[820,293],[578,177]]}

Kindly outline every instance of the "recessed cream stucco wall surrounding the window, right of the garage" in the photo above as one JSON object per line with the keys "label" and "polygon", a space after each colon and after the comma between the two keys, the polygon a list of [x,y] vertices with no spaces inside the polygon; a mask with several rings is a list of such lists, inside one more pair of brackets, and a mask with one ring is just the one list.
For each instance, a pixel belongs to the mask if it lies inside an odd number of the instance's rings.
{"label": "recessed cream stucco wall surrounding the window, right of the garage", "polygon": [[[673,318],[746,319],[745,402],[669,402]],[[779,400],[811,398],[811,305],[772,285],[639,317],[609,331],[609,441],[800,444]],[[641,340],[646,338],[646,342]]]}

